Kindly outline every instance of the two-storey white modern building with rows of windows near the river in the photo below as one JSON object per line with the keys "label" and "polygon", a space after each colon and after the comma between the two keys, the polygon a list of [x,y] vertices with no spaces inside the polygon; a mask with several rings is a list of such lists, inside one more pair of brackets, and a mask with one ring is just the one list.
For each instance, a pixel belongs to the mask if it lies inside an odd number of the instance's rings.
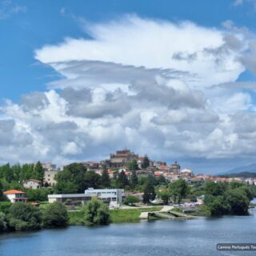
{"label": "two-storey white modern building with rows of windows near the river", "polygon": [[94,190],[89,188],[85,190],[85,194],[97,194],[98,199],[104,202],[109,202],[110,206],[117,206],[122,204],[122,198],[124,197],[124,190],[121,189],[102,189]]}

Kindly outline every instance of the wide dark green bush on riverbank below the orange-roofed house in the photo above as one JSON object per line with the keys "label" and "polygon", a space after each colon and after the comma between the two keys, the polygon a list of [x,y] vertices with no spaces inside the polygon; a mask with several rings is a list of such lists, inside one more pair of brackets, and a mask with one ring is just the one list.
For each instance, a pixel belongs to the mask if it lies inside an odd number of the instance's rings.
{"label": "wide dark green bush on riverbank below the orange-roofed house", "polygon": [[10,206],[8,220],[13,230],[38,230],[41,228],[42,214],[40,210],[25,202],[15,202]]}

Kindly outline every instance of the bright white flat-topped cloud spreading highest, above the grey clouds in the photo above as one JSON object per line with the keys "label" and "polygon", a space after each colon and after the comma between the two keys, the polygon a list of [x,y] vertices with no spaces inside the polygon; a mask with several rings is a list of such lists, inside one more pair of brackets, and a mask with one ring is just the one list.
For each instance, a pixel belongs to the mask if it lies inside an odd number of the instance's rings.
{"label": "bright white flat-topped cloud spreading highest, above the grey clouds", "polygon": [[[70,80],[78,78],[72,61],[83,62],[86,83],[98,74],[110,78],[105,73],[110,70],[108,65],[113,67],[111,63],[118,69],[117,80],[129,72],[124,82],[130,82],[129,78],[134,78],[134,75],[130,77],[130,70],[138,73],[143,71],[142,67],[147,73],[151,70],[166,77],[172,77],[174,70],[178,70],[190,74],[183,79],[194,87],[235,81],[244,70],[237,61],[240,50],[226,45],[224,31],[192,22],[176,24],[129,15],[117,22],[90,24],[85,29],[92,39],[66,38],[56,46],[36,50],[36,58]],[[93,73],[91,64],[94,65]],[[105,68],[103,74],[100,72],[102,66]],[[138,70],[134,72],[134,68]]]}

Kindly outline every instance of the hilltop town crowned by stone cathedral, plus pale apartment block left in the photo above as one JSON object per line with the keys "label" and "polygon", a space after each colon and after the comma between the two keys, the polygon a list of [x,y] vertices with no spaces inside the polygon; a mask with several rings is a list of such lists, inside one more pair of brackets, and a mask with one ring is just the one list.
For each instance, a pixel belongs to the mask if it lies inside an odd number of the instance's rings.
{"label": "hilltop town crowned by stone cathedral, plus pale apartment block left", "polygon": [[[130,166],[134,162],[135,166]],[[110,154],[110,158],[102,160],[100,162],[88,161],[82,162],[87,170],[93,170],[95,173],[102,175],[102,170],[106,169],[110,178],[114,178],[121,171],[124,171],[126,177],[130,179],[132,170],[136,171],[138,176],[154,176],[164,177],[168,182],[174,182],[180,178],[187,182],[246,182],[250,185],[256,185],[256,178],[241,178],[235,177],[226,178],[218,177],[210,174],[194,174],[193,170],[188,168],[182,169],[178,162],[172,163],[167,166],[166,162],[154,161],[145,156],[139,156],[134,152],[124,149],[117,150],[116,153]],[[65,166],[57,167],[53,163],[42,163],[42,167],[45,170],[43,182],[49,186],[56,184],[55,175],[64,169]],[[36,185],[34,185],[36,186]]]}

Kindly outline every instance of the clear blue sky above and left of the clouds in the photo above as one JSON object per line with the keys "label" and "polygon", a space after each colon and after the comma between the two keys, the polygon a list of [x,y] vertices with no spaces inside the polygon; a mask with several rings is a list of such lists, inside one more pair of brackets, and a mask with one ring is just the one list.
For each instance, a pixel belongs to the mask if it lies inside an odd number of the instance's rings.
{"label": "clear blue sky above and left of the clouds", "polygon": [[[5,2],[5,1],[2,1]],[[3,5],[3,3],[2,3]],[[45,45],[62,42],[63,38],[84,38],[75,17],[89,22],[102,22],[122,14],[138,14],[146,18],[170,21],[190,20],[202,26],[220,27],[232,20],[236,26],[255,31],[256,15],[250,3],[234,6],[234,1],[218,0],[95,0],[95,1],[12,1],[7,9],[24,6],[26,10],[0,19],[1,39],[1,96],[18,101],[21,94],[45,90],[46,82],[55,74],[49,67],[34,59],[34,50]],[[65,8],[66,14],[61,10]],[[11,72],[10,72],[11,70]],[[247,72],[241,80],[254,80]]]}

